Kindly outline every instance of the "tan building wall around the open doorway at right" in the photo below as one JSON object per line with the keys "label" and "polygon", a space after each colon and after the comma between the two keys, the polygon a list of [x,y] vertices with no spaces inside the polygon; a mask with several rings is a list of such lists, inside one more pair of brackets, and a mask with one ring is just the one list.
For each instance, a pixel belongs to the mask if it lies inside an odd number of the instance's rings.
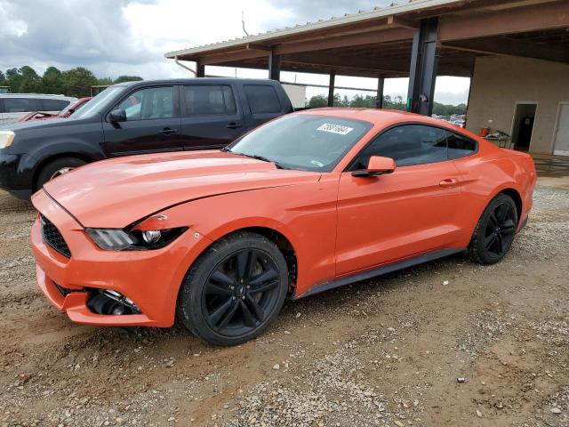
{"label": "tan building wall around the open doorway at right", "polygon": [[[538,102],[530,151],[551,154],[560,101],[569,101],[569,64],[518,57],[477,58],[467,128],[491,127],[511,134],[514,106]],[[489,124],[492,120],[492,124]]]}

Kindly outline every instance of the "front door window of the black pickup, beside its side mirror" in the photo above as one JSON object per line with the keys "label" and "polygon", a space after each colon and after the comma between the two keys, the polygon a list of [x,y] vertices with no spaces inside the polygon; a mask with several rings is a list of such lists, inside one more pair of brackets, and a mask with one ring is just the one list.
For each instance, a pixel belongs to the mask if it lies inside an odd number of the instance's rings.
{"label": "front door window of the black pickup, beside its side mirror", "polygon": [[172,86],[147,87],[130,94],[117,106],[124,109],[126,120],[153,120],[176,117]]}

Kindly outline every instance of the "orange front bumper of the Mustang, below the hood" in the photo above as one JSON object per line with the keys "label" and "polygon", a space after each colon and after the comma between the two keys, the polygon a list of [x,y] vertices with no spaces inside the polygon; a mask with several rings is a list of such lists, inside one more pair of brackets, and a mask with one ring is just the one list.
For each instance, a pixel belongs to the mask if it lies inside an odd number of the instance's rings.
{"label": "orange front bumper of the Mustang, below the hood", "polygon": [[[32,226],[37,284],[57,309],[78,323],[101,326],[172,326],[180,284],[189,266],[211,242],[186,232],[171,245],[153,251],[104,251],[84,227],[43,190],[33,199],[36,209],[60,230],[71,258],[44,243],[41,224]],[[67,292],[63,294],[60,288]],[[141,314],[101,315],[87,305],[94,290],[127,296]]]}

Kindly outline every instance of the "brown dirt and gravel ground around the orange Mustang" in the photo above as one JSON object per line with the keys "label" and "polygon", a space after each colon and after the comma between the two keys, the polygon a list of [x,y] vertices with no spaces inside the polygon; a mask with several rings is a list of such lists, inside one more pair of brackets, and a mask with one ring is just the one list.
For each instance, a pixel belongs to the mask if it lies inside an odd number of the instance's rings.
{"label": "brown dirt and gravel ground around the orange Mustang", "polygon": [[0,425],[569,426],[567,177],[503,262],[288,302],[236,348],[72,324],[36,290],[34,215],[0,192]]}

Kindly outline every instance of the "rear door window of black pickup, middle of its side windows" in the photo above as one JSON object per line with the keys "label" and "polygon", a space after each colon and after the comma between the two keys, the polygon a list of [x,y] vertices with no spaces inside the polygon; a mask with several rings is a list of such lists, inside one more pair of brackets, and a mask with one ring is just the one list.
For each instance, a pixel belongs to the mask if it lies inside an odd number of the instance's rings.
{"label": "rear door window of black pickup, middle of its side windows", "polygon": [[235,97],[228,85],[184,86],[184,117],[229,115],[236,113]]}

